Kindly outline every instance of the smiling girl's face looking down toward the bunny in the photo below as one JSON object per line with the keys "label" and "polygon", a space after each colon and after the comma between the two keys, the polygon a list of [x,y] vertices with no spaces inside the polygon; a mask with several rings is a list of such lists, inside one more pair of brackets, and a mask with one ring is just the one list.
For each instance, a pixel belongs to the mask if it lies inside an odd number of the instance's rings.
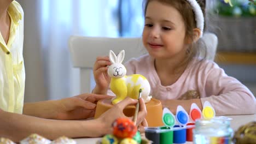
{"label": "smiling girl's face looking down toward the bunny", "polygon": [[185,26],[182,15],[171,5],[148,3],[143,29],[143,44],[154,58],[184,58]]}

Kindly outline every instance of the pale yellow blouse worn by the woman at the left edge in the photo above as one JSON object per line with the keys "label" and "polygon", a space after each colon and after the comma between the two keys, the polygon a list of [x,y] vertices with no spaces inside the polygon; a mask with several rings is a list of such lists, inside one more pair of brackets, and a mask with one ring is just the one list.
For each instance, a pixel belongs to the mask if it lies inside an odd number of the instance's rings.
{"label": "pale yellow blouse worn by the woman at the left edge", "polygon": [[22,113],[25,90],[23,62],[24,12],[13,1],[9,8],[10,33],[7,45],[0,32],[0,109]]}

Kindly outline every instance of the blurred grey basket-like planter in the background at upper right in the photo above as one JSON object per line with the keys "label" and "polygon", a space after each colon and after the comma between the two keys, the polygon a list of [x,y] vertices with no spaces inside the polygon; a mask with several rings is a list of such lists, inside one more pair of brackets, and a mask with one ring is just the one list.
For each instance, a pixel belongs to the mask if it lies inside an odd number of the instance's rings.
{"label": "blurred grey basket-like planter in the background at upper right", "polygon": [[[256,17],[221,17],[213,21],[218,50],[232,52],[256,51]],[[211,25],[211,23],[210,23]]]}

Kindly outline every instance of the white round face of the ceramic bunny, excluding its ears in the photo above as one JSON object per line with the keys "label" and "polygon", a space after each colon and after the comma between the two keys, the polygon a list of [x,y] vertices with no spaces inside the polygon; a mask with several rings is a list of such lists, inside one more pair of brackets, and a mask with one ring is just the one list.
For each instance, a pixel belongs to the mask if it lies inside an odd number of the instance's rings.
{"label": "white round face of the ceramic bunny, excluding its ears", "polygon": [[114,63],[108,67],[108,75],[113,78],[120,78],[126,75],[126,68],[123,64]]}

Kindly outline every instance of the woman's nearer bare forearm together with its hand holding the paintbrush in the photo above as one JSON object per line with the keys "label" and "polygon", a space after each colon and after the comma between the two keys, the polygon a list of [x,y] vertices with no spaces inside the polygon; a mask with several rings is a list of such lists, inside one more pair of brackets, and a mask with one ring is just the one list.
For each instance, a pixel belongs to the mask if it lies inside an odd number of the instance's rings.
{"label": "woman's nearer bare forearm together with its hand holding the paintbrush", "polygon": [[[18,142],[32,133],[56,139],[67,137],[99,137],[112,133],[112,123],[119,117],[126,117],[123,110],[127,105],[135,105],[138,100],[126,98],[103,113],[99,118],[88,121],[63,121],[5,112],[0,109],[0,136]],[[140,110],[137,123],[142,123],[147,115],[143,99],[139,99]]]}

